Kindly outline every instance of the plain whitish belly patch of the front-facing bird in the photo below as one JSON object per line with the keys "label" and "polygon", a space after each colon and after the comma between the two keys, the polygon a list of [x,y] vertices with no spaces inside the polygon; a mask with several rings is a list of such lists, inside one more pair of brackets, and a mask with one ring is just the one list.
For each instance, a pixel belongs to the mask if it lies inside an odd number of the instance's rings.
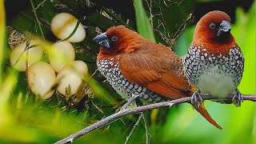
{"label": "plain whitish belly patch of the front-facing bird", "polygon": [[230,74],[218,70],[218,66],[213,66],[198,77],[198,89],[201,94],[211,94],[216,98],[226,98],[230,94],[234,94],[236,87]]}

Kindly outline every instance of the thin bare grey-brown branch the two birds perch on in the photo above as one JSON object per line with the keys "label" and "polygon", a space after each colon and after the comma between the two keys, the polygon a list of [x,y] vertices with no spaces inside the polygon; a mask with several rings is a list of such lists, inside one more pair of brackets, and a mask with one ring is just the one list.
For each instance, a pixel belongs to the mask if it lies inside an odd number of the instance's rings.
{"label": "thin bare grey-brown branch the two birds perch on", "polygon": [[[243,94],[244,100],[249,100],[249,101],[253,101],[256,102],[256,94]],[[210,100],[210,99],[215,99],[213,96],[210,95],[206,95],[203,97],[204,100]],[[233,96],[228,98],[227,100],[232,100]],[[217,99],[218,100],[218,99]],[[96,130],[98,128],[101,128],[102,126],[106,126],[107,124],[110,124],[111,122],[114,122],[116,120],[118,120],[118,118],[122,118],[126,115],[129,114],[137,114],[146,110],[153,110],[153,109],[157,109],[160,107],[166,107],[166,106],[174,106],[174,105],[178,105],[180,103],[185,103],[185,102],[191,102],[191,97],[186,97],[186,98],[179,98],[179,99],[175,99],[169,102],[159,102],[159,103],[154,103],[154,104],[150,104],[150,105],[146,105],[146,106],[139,106],[139,107],[135,107],[133,109],[123,109],[121,111],[119,111],[118,113],[115,114],[111,114],[110,116],[103,118],[101,121],[98,121],[90,126],[87,126],[86,128],[78,131],[75,134],[70,135],[69,137],[63,138],[62,140],[55,142],[56,144],[62,144],[62,143],[67,143],[67,142],[73,142],[74,139],[81,137],[84,134],[89,133],[92,130]]]}

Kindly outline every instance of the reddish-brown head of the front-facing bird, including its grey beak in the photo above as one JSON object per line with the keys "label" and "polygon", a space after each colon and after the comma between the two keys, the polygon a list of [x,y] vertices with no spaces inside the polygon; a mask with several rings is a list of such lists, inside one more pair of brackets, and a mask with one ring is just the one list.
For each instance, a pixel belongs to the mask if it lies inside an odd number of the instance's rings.
{"label": "reddish-brown head of the front-facing bird, including its grey beak", "polygon": [[204,45],[209,49],[218,47],[219,50],[222,50],[222,46],[233,46],[234,38],[230,34],[230,22],[230,16],[225,12],[219,10],[210,11],[197,23],[194,30],[193,43]]}

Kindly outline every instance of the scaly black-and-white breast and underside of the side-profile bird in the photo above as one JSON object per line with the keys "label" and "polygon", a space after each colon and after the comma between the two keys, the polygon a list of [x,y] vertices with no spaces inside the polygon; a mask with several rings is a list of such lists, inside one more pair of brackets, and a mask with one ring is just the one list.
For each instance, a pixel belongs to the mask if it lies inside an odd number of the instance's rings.
{"label": "scaly black-and-white breast and underside of the side-profile bird", "polygon": [[118,62],[114,62],[114,58],[100,59],[97,61],[97,66],[107,82],[110,83],[122,98],[128,99],[131,97],[131,94],[139,94],[139,98],[145,103],[166,101],[165,98],[158,96],[154,91],[148,90],[146,87],[139,86],[136,83],[129,82],[119,69]]}

